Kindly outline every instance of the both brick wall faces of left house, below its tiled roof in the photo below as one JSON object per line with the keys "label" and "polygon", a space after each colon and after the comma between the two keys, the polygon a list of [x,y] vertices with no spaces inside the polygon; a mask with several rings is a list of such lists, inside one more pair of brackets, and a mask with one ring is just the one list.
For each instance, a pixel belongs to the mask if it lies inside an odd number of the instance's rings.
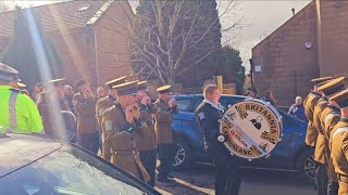
{"label": "both brick wall faces of left house, below its tiled roof", "polygon": [[129,34],[123,26],[128,24],[115,23],[124,20],[120,2],[111,4],[91,28],[49,35],[63,61],[63,77],[72,83],[88,78],[97,88],[113,78],[130,75]]}

